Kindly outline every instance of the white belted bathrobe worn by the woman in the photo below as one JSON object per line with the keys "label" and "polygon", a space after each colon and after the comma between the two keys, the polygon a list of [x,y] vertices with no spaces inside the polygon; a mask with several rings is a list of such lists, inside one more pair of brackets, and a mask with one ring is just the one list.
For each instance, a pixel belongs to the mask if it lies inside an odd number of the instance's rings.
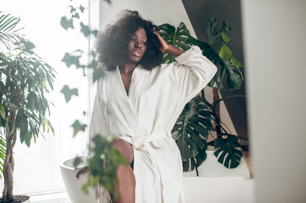
{"label": "white belted bathrobe worn by the woman", "polygon": [[136,203],[184,203],[182,160],[171,130],[185,105],[213,78],[217,67],[194,46],[175,62],[152,70],[138,65],[129,95],[119,68],[97,83],[89,137],[115,135],[134,150]]}

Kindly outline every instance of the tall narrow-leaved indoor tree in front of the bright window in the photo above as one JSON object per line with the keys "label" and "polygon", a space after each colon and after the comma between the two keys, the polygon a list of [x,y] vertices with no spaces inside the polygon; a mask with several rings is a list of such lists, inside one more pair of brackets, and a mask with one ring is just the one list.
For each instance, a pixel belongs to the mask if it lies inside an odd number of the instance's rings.
{"label": "tall narrow-leaved indoor tree in front of the bright window", "polygon": [[0,12],[1,203],[17,199],[13,194],[13,172],[18,137],[30,147],[32,140],[44,137],[45,130],[53,132],[45,94],[53,90],[56,72],[34,53],[35,46],[20,33],[19,22],[19,18]]}

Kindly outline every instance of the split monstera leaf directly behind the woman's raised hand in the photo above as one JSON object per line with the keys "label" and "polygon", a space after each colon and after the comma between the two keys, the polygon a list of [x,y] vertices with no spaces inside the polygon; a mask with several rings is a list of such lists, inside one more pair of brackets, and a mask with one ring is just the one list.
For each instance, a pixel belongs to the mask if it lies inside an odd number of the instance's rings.
{"label": "split monstera leaf directly behind the woman's raised hand", "polygon": [[[168,44],[181,50],[190,49],[191,45],[186,44],[186,40],[190,36],[190,33],[183,22],[180,23],[176,31],[174,26],[167,23],[159,25],[158,29],[160,30],[160,36],[163,37]],[[173,55],[164,55],[163,63],[171,63],[173,61],[175,61],[175,57]]]}

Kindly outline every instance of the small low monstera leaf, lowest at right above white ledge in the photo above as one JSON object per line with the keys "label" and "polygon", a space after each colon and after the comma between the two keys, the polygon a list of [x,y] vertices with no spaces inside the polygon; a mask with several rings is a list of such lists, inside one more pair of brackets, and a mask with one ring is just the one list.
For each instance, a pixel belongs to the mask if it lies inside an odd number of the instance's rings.
{"label": "small low monstera leaf, lowest at right above white ledge", "polygon": [[[216,151],[214,155],[218,158],[218,162],[227,168],[236,168],[240,164],[242,152],[238,144],[239,137],[236,135],[228,135],[227,139],[218,138],[215,140]],[[226,156],[227,155],[227,156]]]}

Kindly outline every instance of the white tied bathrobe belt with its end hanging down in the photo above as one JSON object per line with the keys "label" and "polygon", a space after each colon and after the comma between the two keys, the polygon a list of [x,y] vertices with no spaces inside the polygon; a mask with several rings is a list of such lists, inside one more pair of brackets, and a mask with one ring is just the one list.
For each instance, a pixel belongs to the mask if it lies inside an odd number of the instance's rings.
{"label": "white tied bathrobe belt with its end hanging down", "polygon": [[163,131],[160,133],[153,133],[147,136],[121,136],[119,137],[127,142],[129,142],[136,150],[142,151],[142,148],[146,148],[151,155],[153,161],[156,163],[159,174],[160,174],[160,180],[161,184],[163,185],[162,194],[163,194],[163,203],[169,202],[169,191],[167,188],[169,188],[169,184],[166,181],[166,170],[164,164],[160,163],[158,159],[158,155],[156,154],[156,151],[149,145],[153,141],[162,140],[166,138],[172,138],[171,131]]}

